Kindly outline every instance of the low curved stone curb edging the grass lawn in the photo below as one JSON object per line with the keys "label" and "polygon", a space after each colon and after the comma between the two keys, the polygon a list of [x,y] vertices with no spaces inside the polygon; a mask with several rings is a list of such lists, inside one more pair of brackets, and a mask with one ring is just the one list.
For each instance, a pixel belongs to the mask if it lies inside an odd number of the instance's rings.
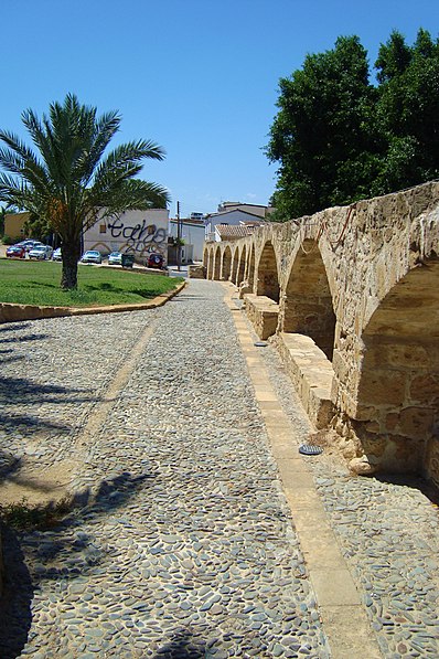
{"label": "low curved stone curb edging the grass lawn", "polygon": [[32,305],[14,305],[0,302],[0,323],[19,322],[23,320],[39,320],[41,318],[61,318],[66,316],[90,316],[94,313],[120,313],[122,311],[142,311],[162,307],[185,287],[180,284],[173,290],[162,293],[148,302],[137,305],[115,305],[108,307],[36,307]]}

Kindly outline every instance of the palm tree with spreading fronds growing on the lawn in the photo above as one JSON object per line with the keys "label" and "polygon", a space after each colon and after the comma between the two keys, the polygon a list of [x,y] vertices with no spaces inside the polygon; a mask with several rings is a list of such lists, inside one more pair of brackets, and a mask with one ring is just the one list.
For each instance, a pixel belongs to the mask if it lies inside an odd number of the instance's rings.
{"label": "palm tree with spreading fronds growing on the lawn", "polygon": [[63,105],[52,103],[49,117],[31,109],[22,114],[39,155],[20,138],[0,130],[0,201],[44,217],[62,240],[61,286],[77,287],[81,237],[97,220],[130,209],[165,208],[168,191],[135,177],[142,160],[162,160],[164,151],[150,140],[130,141],[105,150],[118,131],[121,117],[100,117],[95,107],[81,105],[67,94]]}

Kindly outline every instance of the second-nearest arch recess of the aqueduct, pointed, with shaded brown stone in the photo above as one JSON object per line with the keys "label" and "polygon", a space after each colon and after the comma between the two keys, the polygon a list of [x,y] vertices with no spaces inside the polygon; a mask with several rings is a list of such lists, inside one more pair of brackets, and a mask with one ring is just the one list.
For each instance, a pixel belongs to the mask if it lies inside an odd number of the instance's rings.
{"label": "second-nearest arch recess of the aqueduct, pointed, with shaded brown stone", "polygon": [[332,360],[335,313],[326,268],[314,241],[302,243],[292,264],[283,296],[281,329],[311,337]]}

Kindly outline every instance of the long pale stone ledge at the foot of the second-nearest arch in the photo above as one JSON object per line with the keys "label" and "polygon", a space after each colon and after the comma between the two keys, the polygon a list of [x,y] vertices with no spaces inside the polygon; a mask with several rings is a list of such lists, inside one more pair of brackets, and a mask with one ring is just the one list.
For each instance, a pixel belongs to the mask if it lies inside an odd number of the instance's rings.
{"label": "long pale stone ledge at the foot of the second-nearest arch", "polygon": [[326,427],[333,416],[332,363],[310,337],[281,332],[277,343],[308,416],[318,428]]}

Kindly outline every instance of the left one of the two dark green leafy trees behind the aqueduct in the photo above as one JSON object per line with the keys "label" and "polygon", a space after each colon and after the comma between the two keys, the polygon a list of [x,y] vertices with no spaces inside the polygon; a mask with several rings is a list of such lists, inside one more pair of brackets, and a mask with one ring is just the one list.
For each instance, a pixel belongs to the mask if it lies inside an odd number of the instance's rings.
{"label": "left one of the two dark green leafy trees behind the aqueduct", "polygon": [[357,36],[339,38],[333,50],[308,55],[302,70],[280,81],[267,147],[268,158],[280,162],[272,199],[280,219],[364,194],[378,167],[375,95]]}

